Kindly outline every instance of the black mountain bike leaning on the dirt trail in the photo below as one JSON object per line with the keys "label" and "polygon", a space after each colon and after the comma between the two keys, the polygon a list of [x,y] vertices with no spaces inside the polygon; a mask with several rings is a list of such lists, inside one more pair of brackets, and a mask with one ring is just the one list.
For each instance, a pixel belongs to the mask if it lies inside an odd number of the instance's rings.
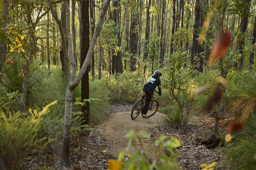
{"label": "black mountain bike leaning on the dirt trail", "polygon": [[[157,94],[159,94],[158,91],[154,90]],[[138,99],[135,104],[134,107],[131,110],[131,119],[136,119],[140,113],[142,113],[144,105],[145,105],[145,101],[146,101],[146,97],[147,97],[148,93],[144,91],[144,95],[142,96],[142,98]],[[149,108],[148,108],[148,113],[147,116],[148,118],[153,116],[158,109],[159,103],[157,101],[157,99],[154,98],[154,94],[152,95],[152,99],[149,103]]]}

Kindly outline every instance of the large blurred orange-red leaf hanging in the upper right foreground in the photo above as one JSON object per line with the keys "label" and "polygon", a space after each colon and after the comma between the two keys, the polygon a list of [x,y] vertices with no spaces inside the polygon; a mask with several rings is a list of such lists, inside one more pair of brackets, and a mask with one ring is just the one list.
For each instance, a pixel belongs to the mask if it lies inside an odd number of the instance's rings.
{"label": "large blurred orange-red leaf hanging in the upper right foreground", "polygon": [[226,54],[230,42],[230,33],[228,31],[222,31],[212,48],[212,54],[209,57],[209,65]]}

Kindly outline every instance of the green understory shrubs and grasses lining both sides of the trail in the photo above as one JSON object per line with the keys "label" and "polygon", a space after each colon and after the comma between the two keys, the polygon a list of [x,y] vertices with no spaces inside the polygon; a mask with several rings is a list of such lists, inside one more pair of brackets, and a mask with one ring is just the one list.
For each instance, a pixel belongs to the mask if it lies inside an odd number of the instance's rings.
{"label": "green understory shrubs and grasses lining both sides of the trail", "polygon": [[[8,67],[8,65],[4,65],[4,67]],[[218,67],[218,63],[215,67]],[[189,66],[180,69],[178,75],[175,75],[175,81],[176,84],[182,84],[180,86],[182,92],[176,96],[176,99],[170,94],[172,92],[170,88],[172,78],[169,77],[169,71],[170,68],[162,70],[162,86],[165,88],[162,91],[163,95],[156,97],[160,103],[159,111],[168,116],[170,125],[181,128],[181,109],[183,109],[185,131],[190,117],[195,114],[201,113],[214,117],[212,112],[216,111],[221,103],[216,102],[209,112],[205,111],[205,107],[215,85],[219,82],[218,69],[209,69],[189,79],[187,76],[178,77],[179,75],[190,74]],[[234,166],[240,167],[239,169],[252,170],[255,167],[255,71],[255,68],[246,71],[230,70],[226,79],[227,90],[223,94],[225,96],[225,110],[221,116],[234,120],[239,117],[246,119],[244,131],[239,133],[233,142],[227,143],[224,147],[227,157],[232,158],[233,161],[236,160]],[[45,65],[37,65],[35,62],[32,65],[26,98],[27,106],[32,110],[27,113],[20,113],[17,109],[22,86],[20,72],[18,65],[9,67],[3,77],[7,85],[0,86],[0,158],[6,162],[7,169],[19,169],[28,154],[35,154],[35,148],[38,156],[47,154],[52,159],[55,159],[54,157],[58,156],[61,150],[59,143],[61,143],[63,135],[67,79],[61,73],[60,68],[55,67],[48,71]],[[104,73],[107,75],[106,72]],[[142,96],[143,85],[149,76],[151,76],[150,71],[146,74],[143,74],[142,71],[125,71],[116,77],[90,78],[90,99],[88,99],[90,125],[96,125],[108,116],[107,108],[111,103],[134,103]],[[206,92],[197,95],[195,91],[206,84],[208,84]],[[177,90],[175,91],[177,92]],[[81,125],[83,115],[81,105],[83,102],[81,102],[80,94],[81,85],[75,89],[73,94],[72,139],[90,129],[90,126]],[[177,100],[184,102],[184,105],[180,107]],[[71,152],[76,152],[76,149],[72,149]]]}

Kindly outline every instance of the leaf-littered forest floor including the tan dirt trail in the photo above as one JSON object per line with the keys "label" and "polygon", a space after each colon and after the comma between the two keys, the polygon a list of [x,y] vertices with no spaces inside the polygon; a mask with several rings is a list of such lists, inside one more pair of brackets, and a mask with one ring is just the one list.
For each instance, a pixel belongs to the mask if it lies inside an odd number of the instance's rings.
{"label": "leaf-littered forest floor including the tan dirt trail", "polygon": [[[205,145],[198,144],[196,139],[206,139],[213,134],[214,120],[204,115],[198,115],[186,125],[186,133],[181,133],[177,127],[170,126],[164,114],[157,112],[151,118],[145,119],[141,115],[131,119],[132,104],[114,104],[109,108],[109,116],[101,124],[90,130],[89,136],[80,136],[76,141],[71,141],[70,168],[61,167],[57,158],[46,160],[26,159],[23,169],[51,169],[51,170],[107,170],[108,160],[117,159],[118,154],[125,151],[128,139],[125,134],[130,130],[140,132],[144,130],[150,134],[150,139],[141,139],[143,145],[133,143],[125,152],[132,154],[140,149],[153,156],[157,147],[153,145],[159,136],[177,138],[181,146],[175,148],[173,162],[179,170],[199,170],[200,161],[217,162],[215,170],[228,170],[229,164],[221,148],[208,149]],[[227,121],[221,121],[221,130],[225,130]],[[198,158],[199,157],[199,158]],[[46,156],[47,158],[47,156]],[[124,161],[128,160],[125,157]],[[43,167],[43,168],[42,168]]]}

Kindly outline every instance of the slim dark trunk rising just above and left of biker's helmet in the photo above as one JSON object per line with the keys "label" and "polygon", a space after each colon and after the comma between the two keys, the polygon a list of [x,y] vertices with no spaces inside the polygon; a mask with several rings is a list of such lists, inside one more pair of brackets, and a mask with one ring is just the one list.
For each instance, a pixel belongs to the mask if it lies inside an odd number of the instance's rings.
{"label": "slim dark trunk rising just above and left of biker's helmet", "polygon": [[[150,6],[151,6],[151,0],[146,0],[147,13],[146,13],[146,26],[145,26],[145,49],[147,49],[149,31],[150,31],[150,24],[149,24],[150,23],[150,11],[149,11]],[[146,63],[147,58],[148,58],[148,51],[145,50],[144,56],[143,56],[143,63]],[[147,65],[144,66],[143,75],[145,75],[146,67]]]}

